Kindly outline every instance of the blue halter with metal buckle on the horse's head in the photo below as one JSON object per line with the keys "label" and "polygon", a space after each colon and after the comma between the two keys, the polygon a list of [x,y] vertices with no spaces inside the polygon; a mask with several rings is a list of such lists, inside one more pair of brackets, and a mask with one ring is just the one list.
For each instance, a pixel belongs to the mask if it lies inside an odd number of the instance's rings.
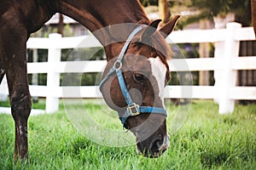
{"label": "blue halter with metal buckle on the horse's head", "polygon": [[115,63],[113,64],[113,67],[110,69],[108,74],[102,79],[102,82],[99,85],[99,87],[101,89],[103,83],[108,80],[108,77],[110,77],[113,74],[113,72],[116,73],[118,80],[119,80],[119,86],[121,88],[122,94],[124,95],[125,101],[127,104],[127,110],[125,111],[125,114],[123,116],[120,116],[120,114],[119,114],[119,119],[123,123],[123,126],[126,129],[128,129],[129,127],[127,126],[127,124],[125,122],[128,119],[128,117],[130,117],[130,116],[137,116],[140,113],[154,113],[154,114],[160,114],[163,116],[167,116],[167,111],[164,108],[151,107],[151,106],[140,106],[140,105],[135,104],[132,101],[131,96],[126,88],[125,80],[122,75],[122,71],[121,71],[122,61],[125,57],[126,50],[129,47],[129,44],[131,43],[132,37],[134,37],[138,31],[141,31],[143,29],[143,27],[144,26],[138,26],[134,31],[131,32],[130,36],[127,38],[125,45],[119,54],[118,59],[115,61]]}

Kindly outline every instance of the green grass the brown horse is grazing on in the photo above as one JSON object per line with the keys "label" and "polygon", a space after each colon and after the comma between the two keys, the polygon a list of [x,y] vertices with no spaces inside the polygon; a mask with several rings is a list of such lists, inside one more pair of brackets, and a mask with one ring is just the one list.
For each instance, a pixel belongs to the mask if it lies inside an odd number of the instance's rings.
{"label": "green grass the brown horse is grazing on", "polygon": [[[42,108],[42,104],[38,104]],[[43,104],[44,105],[44,104]],[[74,113],[83,111],[100,125],[121,129],[118,118],[102,113],[94,102],[71,105]],[[136,146],[109,147],[96,144],[79,133],[67,118],[64,107],[50,115],[30,116],[28,127],[30,163],[14,163],[15,125],[10,115],[0,114],[1,169],[255,169],[256,105],[236,105],[231,115],[218,115],[212,101],[195,100],[175,107],[166,102],[170,148],[163,156],[138,156]],[[189,109],[183,126],[179,114]],[[109,110],[110,111],[110,110]],[[110,115],[115,114],[110,111]],[[100,116],[99,116],[100,115]],[[186,114],[182,115],[186,116]],[[176,118],[175,118],[176,117]]]}

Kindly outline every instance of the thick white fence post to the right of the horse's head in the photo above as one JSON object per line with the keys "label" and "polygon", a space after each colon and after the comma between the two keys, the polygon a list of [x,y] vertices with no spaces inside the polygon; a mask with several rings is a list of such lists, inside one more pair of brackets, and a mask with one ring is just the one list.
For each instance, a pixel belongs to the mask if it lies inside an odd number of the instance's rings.
{"label": "thick white fence post to the right of the horse's head", "polygon": [[232,70],[232,61],[238,57],[239,41],[234,40],[236,29],[241,24],[232,22],[227,24],[227,34],[224,42],[224,55],[218,58],[218,113],[231,113],[234,111],[235,100],[230,99],[230,88],[236,87],[237,71]]}

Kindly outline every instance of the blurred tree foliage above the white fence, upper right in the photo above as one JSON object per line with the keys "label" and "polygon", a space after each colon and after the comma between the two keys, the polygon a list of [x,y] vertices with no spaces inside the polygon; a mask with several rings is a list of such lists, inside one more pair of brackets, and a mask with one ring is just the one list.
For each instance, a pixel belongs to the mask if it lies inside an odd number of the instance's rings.
{"label": "blurred tree foliage above the white fence, upper right", "polygon": [[179,8],[186,7],[187,10],[195,12],[194,15],[183,16],[179,20],[177,23],[179,29],[201,19],[213,20],[215,16],[224,17],[228,13],[234,13],[236,22],[241,23],[242,26],[250,26],[252,23],[251,0],[140,0],[144,7],[160,6],[163,1],[169,7],[169,11],[178,11]]}

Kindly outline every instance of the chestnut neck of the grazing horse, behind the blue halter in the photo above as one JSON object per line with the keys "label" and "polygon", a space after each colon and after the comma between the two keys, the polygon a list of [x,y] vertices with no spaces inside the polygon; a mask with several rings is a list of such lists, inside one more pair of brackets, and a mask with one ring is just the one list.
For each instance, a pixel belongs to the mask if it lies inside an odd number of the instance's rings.
{"label": "chestnut neck of the grazing horse, behind the blue halter", "polygon": [[[124,41],[136,27],[135,24],[149,24],[137,0],[59,0],[58,5],[57,12],[79,21],[96,36],[105,48],[108,59],[117,56],[122,47],[119,40]],[[133,25],[125,26],[124,23]]]}

